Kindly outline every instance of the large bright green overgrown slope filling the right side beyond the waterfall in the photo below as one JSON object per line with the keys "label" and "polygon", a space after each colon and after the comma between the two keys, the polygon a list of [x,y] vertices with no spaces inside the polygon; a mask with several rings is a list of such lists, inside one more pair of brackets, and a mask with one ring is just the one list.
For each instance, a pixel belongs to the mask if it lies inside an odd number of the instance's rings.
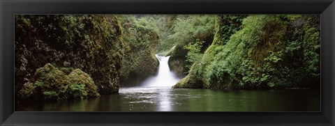
{"label": "large bright green overgrown slope filling the right side beyond the waterfall", "polygon": [[214,42],[174,88],[320,88],[320,17],[221,15]]}

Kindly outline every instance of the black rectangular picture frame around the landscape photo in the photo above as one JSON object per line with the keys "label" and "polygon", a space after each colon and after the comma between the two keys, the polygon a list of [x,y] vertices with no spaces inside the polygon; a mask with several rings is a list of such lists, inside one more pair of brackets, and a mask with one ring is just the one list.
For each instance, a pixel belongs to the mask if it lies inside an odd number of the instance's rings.
{"label": "black rectangular picture frame around the landscape photo", "polygon": [[[0,125],[335,124],[334,0],[1,0]],[[321,112],[14,111],[15,14],[320,14]]]}

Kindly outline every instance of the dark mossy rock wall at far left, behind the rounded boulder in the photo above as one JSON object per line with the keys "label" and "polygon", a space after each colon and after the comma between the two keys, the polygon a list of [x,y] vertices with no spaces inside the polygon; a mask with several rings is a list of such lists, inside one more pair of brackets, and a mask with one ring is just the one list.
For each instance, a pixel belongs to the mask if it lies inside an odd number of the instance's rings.
{"label": "dark mossy rock wall at far left, behind the rounded boulder", "polygon": [[80,69],[99,93],[117,93],[123,55],[120,35],[112,15],[16,15],[15,93],[24,84],[31,86],[38,79],[34,73],[46,63]]}

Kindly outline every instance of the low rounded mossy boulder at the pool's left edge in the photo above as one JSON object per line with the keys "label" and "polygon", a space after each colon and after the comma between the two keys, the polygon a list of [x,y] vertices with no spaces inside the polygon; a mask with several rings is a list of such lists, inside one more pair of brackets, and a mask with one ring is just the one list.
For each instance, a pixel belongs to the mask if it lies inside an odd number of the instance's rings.
{"label": "low rounded mossy boulder at the pool's left edge", "polygon": [[[18,92],[22,100],[68,100],[98,97],[98,88],[89,74],[75,69],[55,68],[47,63],[34,74],[36,81],[29,81]],[[68,69],[71,70],[71,69]]]}

